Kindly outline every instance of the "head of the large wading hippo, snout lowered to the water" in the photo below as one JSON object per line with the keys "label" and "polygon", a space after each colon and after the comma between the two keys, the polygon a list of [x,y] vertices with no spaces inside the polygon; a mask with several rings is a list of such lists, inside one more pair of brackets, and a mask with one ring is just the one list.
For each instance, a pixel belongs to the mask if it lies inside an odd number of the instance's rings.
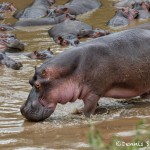
{"label": "head of the large wading hippo, snout lowered to the water", "polygon": [[52,81],[43,79],[46,72],[43,70],[40,75],[38,69],[35,69],[35,75],[29,80],[32,86],[27,101],[21,106],[21,114],[29,121],[42,121],[48,118],[55,110],[57,102],[50,97]]}

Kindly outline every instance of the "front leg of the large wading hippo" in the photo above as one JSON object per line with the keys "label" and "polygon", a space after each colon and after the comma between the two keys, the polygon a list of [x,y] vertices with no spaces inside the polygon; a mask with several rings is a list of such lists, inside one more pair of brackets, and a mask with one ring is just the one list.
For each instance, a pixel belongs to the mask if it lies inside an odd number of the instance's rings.
{"label": "front leg of the large wading hippo", "polygon": [[90,93],[86,99],[84,99],[83,113],[86,117],[90,117],[90,115],[95,113],[99,98],[98,95]]}

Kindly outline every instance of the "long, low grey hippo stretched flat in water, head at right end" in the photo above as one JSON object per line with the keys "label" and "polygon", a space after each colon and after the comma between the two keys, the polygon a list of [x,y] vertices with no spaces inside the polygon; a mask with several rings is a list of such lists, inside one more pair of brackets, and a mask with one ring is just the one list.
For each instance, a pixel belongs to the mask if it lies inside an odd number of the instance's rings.
{"label": "long, low grey hippo stretched flat in water, head at right end", "polygon": [[74,20],[75,16],[70,14],[63,14],[61,16],[54,17],[54,18],[45,17],[45,18],[38,18],[38,19],[19,20],[14,24],[14,27],[18,28],[18,27],[54,25],[63,22],[66,19]]}

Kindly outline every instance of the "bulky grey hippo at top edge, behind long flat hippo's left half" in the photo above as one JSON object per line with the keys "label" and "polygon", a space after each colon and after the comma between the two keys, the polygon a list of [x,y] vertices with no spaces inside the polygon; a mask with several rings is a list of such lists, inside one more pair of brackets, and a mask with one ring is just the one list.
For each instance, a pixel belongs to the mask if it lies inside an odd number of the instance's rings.
{"label": "bulky grey hippo at top edge, behind long flat hippo's left half", "polygon": [[16,19],[36,19],[45,17],[48,8],[55,3],[55,0],[34,0],[34,2],[24,10],[14,14]]}

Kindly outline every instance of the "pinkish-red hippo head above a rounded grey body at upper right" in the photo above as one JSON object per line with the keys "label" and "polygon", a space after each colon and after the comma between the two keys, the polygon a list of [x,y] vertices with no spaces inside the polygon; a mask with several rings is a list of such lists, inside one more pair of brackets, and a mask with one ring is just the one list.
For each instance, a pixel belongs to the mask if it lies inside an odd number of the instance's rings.
{"label": "pinkish-red hippo head above a rounded grey body at upper right", "polygon": [[135,9],[130,9],[129,7],[122,8],[118,10],[117,13],[121,13],[122,16],[127,18],[128,20],[133,20],[138,17],[138,11]]}

